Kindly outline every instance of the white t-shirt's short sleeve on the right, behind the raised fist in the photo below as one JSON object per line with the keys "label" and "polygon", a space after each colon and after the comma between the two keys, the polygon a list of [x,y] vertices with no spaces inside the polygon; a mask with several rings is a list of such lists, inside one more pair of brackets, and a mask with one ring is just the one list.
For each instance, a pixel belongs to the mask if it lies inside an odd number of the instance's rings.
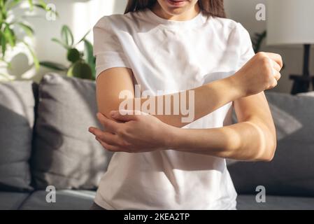
{"label": "white t-shirt's short sleeve on the right, behind the raised fist", "polygon": [[240,58],[238,60],[238,69],[241,69],[241,67],[255,55],[255,52],[252,48],[250,34],[241,23],[237,23],[236,32],[238,32],[238,43],[240,43],[241,46]]}

